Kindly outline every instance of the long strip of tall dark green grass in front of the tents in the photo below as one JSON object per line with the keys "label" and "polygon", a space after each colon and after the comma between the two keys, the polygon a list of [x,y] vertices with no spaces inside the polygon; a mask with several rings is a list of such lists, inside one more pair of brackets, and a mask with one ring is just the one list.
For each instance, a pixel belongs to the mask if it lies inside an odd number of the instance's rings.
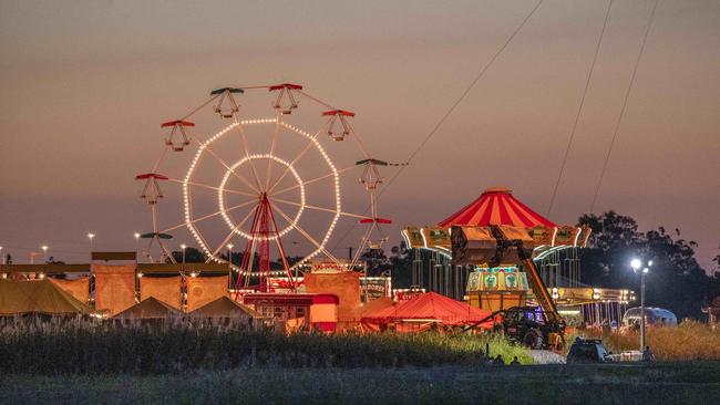
{"label": "long strip of tall dark green grass in front of the tents", "polygon": [[[485,338],[487,339],[487,338]],[[0,322],[0,370],[7,373],[167,374],[237,367],[402,367],[485,364],[476,335],[281,334],[245,324],[171,320],[119,324],[89,320]],[[523,363],[526,351],[497,338],[491,354]]]}

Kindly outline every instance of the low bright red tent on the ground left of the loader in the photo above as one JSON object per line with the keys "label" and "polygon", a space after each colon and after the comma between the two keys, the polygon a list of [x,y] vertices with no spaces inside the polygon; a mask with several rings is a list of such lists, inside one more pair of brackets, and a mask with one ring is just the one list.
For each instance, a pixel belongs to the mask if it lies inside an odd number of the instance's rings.
{"label": "low bright red tent on the ground left of the loader", "polygon": [[[426,321],[463,325],[479,322],[490,314],[490,311],[470,307],[435,292],[426,292],[393,307],[368,311],[362,314],[362,320],[371,323]],[[481,328],[492,328],[492,320],[488,320]]]}

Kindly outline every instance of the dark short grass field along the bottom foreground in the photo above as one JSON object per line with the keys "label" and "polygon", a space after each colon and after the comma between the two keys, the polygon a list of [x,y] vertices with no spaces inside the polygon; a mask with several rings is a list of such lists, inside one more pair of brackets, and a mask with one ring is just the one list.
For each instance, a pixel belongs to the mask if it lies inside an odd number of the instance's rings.
{"label": "dark short grass field along the bottom foreground", "polygon": [[1,375],[2,404],[713,404],[720,362]]}

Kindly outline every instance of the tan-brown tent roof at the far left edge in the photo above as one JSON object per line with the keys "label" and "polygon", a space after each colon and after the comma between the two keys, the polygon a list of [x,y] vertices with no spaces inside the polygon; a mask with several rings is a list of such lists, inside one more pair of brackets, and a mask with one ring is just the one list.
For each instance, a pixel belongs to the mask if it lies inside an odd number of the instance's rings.
{"label": "tan-brown tent roof at the far left edge", "polygon": [[0,315],[89,314],[93,311],[50,280],[0,280]]}

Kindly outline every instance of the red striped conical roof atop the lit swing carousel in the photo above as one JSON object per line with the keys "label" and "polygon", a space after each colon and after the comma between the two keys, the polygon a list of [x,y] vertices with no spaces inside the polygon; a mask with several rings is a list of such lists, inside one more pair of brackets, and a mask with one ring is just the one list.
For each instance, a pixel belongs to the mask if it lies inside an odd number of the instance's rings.
{"label": "red striped conical roof atop the lit swing carousel", "polygon": [[486,227],[490,225],[510,225],[514,227],[554,227],[547,218],[529,209],[526,205],[513,197],[513,191],[504,187],[492,187],[438,224],[441,227],[453,225]]}

